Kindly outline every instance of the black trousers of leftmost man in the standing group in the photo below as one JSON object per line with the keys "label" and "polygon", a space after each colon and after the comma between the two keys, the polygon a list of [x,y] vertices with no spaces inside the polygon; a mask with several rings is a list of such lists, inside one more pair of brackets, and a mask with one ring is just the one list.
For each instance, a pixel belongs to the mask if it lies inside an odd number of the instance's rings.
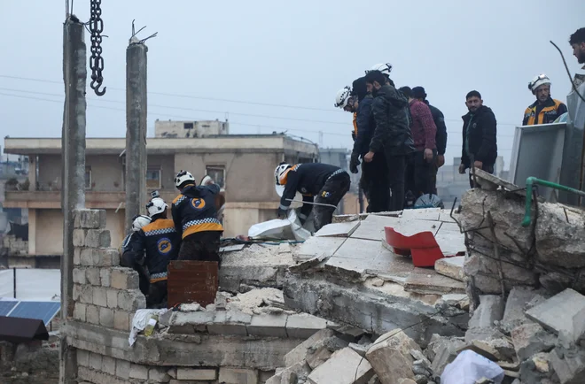
{"label": "black trousers of leftmost man in the standing group", "polygon": [[384,152],[377,152],[370,163],[362,163],[362,185],[367,190],[368,212],[383,212],[390,209],[390,185],[388,165]]}

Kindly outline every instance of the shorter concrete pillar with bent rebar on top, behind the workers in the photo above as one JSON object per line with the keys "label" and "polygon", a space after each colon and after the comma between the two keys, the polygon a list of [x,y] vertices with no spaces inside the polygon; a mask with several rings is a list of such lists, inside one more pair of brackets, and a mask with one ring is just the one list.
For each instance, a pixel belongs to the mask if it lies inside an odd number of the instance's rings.
{"label": "shorter concrete pillar with bent rebar on top, behind the workers", "polygon": [[146,52],[134,35],[126,49],[126,229],[146,204]]}

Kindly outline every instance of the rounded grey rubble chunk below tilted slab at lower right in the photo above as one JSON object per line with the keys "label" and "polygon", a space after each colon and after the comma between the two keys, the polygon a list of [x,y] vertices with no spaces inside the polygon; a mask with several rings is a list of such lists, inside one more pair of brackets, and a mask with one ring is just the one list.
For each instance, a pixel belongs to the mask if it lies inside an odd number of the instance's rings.
{"label": "rounded grey rubble chunk below tilted slab at lower right", "polygon": [[517,326],[511,331],[511,338],[520,361],[538,352],[549,352],[556,342],[554,335],[534,323]]}

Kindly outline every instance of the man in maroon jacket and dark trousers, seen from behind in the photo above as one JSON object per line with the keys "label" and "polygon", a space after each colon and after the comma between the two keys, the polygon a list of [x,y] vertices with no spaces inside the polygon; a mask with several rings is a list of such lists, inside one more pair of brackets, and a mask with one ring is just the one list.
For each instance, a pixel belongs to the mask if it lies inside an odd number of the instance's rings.
{"label": "man in maroon jacket and dark trousers, seen from behind", "polygon": [[400,88],[402,94],[409,99],[410,133],[416,152],[407,162],[406,185],[415,198],[433,193],[433,163],[437,154],[435,136],[437,127],[434,125],[433,114],[425,103],[412,95],[409,87]]}

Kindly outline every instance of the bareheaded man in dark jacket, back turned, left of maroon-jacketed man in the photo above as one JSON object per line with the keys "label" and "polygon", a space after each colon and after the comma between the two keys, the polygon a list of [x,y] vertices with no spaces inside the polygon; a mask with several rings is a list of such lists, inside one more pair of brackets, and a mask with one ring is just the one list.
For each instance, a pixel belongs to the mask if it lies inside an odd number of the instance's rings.
{"label": "bareheaded man in dark jacket, back turned, left of maroon-jacketed man", "polygon": [[390,210],[402,211],[406,157],[415,151],[409,127],[409,101],[386,81],[381,72],[370,71],[365,77],[368,92],[374,96],[371,111],[376,128],[363,161],[370,163],[378,153],[386,155],[392,191]]}

